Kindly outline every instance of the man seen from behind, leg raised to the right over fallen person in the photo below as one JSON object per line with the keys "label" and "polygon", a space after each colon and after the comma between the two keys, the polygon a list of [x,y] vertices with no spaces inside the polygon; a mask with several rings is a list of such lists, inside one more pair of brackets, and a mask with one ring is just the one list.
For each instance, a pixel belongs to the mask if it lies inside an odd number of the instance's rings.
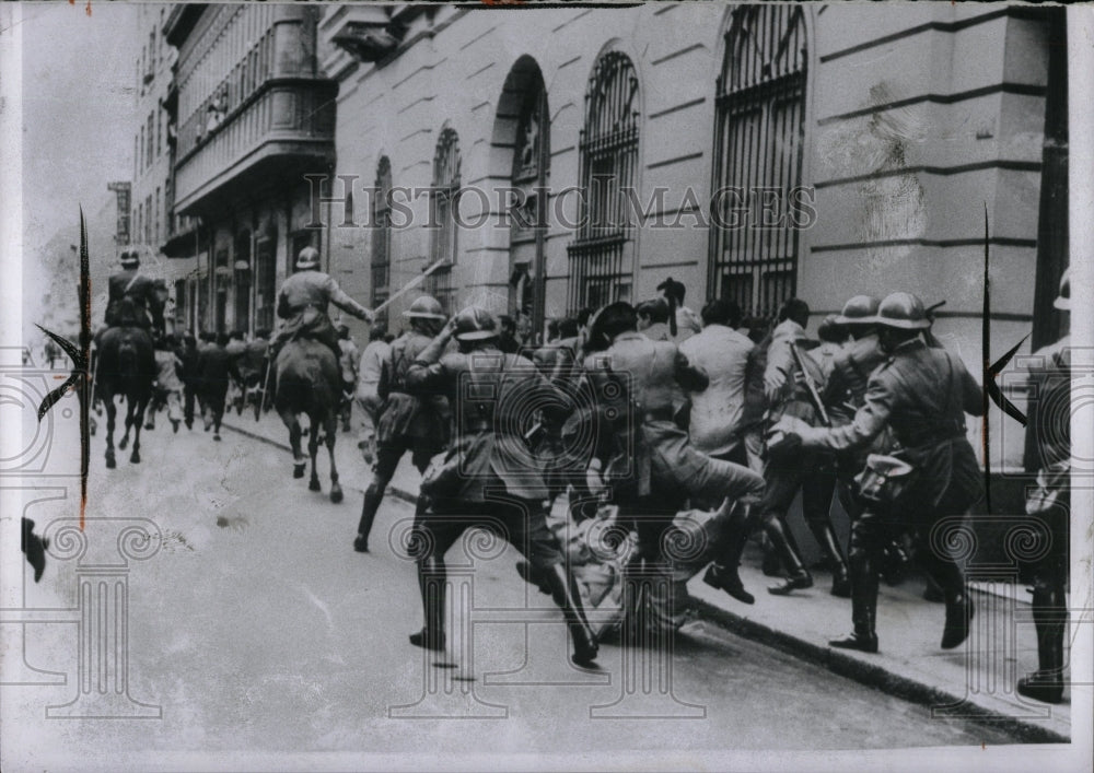
{"label": "man seen from behind, leg raised to the right over fallen person", "polygon": [[[677,420],[687,402],[686,393],[702,391],[709,378],[675,343],[652,341],[639,332],[637,321],[630,304],[618,302],[601,311],[590,331],[591,341],[607,343],[584,362],[601,417],[591,477],[612,487],[620,517],[635,523],[638,546],[632,566],[644,562],[667,570],[662,547],[686,501],[721,503],[715,523],[708,526],[728,536],[723,544],[711,546],[723,563],[710,584],[752,604],[752,595],[737,576],[735,558],[747,538],[747,507],[763,494],[764,479],[691,445]],[[593,480],[590,489],[595,492],[597,488],[600,481]]]}

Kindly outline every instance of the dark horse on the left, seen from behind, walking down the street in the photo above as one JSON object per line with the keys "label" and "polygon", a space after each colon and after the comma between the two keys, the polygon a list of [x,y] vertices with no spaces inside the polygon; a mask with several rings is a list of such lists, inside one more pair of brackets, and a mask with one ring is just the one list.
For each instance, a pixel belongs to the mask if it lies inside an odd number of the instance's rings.
{"label": "dark horse on the left, seen from behind, walking down the street", "polygon": [[95,399],[106,408],[106,467],[114,469],[114,422],[117,405],[114,398],[126,399],[126,431],[118,442],[125,450],[129,444],[129,430],[133,431],[133,449],[129,461],[140,462],[140,430],[144,423],[144,410],[152,398],[152,382],[155,379],[155,354],[152,336],[142,327],[112,327],[103,332],[98,341],[95,365]]}

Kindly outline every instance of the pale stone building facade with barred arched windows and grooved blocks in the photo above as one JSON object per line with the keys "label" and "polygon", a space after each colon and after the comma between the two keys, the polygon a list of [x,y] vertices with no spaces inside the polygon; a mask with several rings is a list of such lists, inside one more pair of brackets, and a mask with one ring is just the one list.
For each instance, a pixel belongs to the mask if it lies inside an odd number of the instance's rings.
{"label": "pale stone building facade with barred arched windows and grooved blocks", "polygon": [[[979,373],[987,210],[992,351],[1051,338],[1059,11],[344,4],[319,36],[341,177],[322,220],[362,301],[441,259],[426,285],[450,308],[540,330],[670,276],[758,316],[907,290],[946,302],[935,330]],[[392,187],[394,212],[369,190]]]}

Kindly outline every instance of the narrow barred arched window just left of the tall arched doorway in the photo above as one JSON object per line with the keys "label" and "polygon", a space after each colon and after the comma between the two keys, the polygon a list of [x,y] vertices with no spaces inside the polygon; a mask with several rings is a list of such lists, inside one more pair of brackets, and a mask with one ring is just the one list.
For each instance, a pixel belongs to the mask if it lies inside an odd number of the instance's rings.
{"label": "narrow barred arched window just left of the tall arched doorway", "polygon": [[433,185],[430,191],[430,222],[435,225],[430,244],[430,265],[438,260],[445,265],[433,271],[426,281],[428,292],[452,314],[452,267],[458,249],[456,206],[459,201],[459,137],[446,128],[437,142],[433,155]]}

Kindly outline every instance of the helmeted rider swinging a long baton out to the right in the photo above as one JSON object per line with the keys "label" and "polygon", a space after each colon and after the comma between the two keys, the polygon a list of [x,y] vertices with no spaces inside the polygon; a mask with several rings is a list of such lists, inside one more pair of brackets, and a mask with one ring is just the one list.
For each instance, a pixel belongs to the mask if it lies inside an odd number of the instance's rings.
{"label": "helmeted rider swinging a long baton out to the right", "polygon": [[372,321],[372,312],[342,292],[334,277],[319,271],[319,250],[304,247],[296,257],[296,273],[284,280],[278,295],[277,315],[284,321],[270,341],[271,355],[277,356],[286,341],[303,336],[327,344],[337,361],[341,349],[338,332],[327,316],[330,304],[358,319]]}

